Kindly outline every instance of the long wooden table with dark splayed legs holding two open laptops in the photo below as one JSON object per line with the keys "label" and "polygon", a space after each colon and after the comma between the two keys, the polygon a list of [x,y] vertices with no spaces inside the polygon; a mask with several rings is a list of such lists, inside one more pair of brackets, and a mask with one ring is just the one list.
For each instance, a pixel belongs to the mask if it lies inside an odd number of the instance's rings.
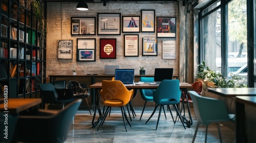
{"label": "long wooden table with dark splayed legs holding two open laptops", "polygon": [[[90,85],[89,87],[91,89],[101,89],[102,88],[102,83],[97,82],[95,84]],[[138,84],[126,85],[126,88],[128,88],[128,89],[157,89],[158,85],[150,85],[149,83],[144,83],[144,84],[139,84],[139,85]],[[182,91],[184,91],[185,93],[187,92],[187,88],[192,88],[192,85],[188,84],[188,83],[180,83],[180,89]],[[187,98],[187,94],[185,94],[185,96]],[[97,100],[95,100],[96,102],[94,103],[95,107],[94,107],[94,115],[93,115],[93,120],[92,120],[93,128],[99,123],[99,121],[101,120],[101,117],[102,117],[102,113],[101,113],[101,109],[100,109],[100,105],[99,105],[99,93],[98,92],[97,92],[97,96],[95,96],[95,97],[97,97]],[[188,100],[186,100],[186,101],[187,101],[189,121],[186,119],[185,113],[183,115],[183,121],[188,127],[190,127],[193,124],[193,121],[192,121],[192,117],[191,117],[191,114],[190,114]],[[99,118],[95,122],[97,110],[98,110],[98,113],[99,113]]]}

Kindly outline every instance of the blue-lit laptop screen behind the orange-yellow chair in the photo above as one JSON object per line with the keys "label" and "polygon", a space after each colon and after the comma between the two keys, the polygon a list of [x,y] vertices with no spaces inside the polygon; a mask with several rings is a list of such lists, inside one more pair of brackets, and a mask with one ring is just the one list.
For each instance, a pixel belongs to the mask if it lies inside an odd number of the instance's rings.
{"label": "blue-lit laptop screen behind the orange-yellow chair", "polygon": [[116,69],[115,80],[120,80],[123,84],[133,84],[134,69]]}

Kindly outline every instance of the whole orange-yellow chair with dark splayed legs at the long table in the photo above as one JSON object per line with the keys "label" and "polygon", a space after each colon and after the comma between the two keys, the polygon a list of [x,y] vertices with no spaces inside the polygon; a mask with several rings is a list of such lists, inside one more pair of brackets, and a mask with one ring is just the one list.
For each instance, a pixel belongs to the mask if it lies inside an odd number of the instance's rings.
{"label": "whole orange-yellow chair with dark splayed legs at the long table", "polygon": [[133,96],[133,89],[128,90],[121,81],[119,81],[119,80],[116,80],[116,81],[103,80],[102,81],[102,90],[100,91],[100,100],[102,101],[102,103],[105,106],[107,106],[107,108],[103,114],[103,118],[98,127],[98,130],[99,130],[100,126],[103,125],[105,118],[110,111],[110,108],[111,107],[120,107],[121,112],[122,112],[125,131],[127,132],[124,118],[125,118],[126,122],[130,125],[130,127],[132,127],[132,126],[127,119],[127,115],[125,113],[123,106],[125,106],[127,103],[130,102],[132,96]]}

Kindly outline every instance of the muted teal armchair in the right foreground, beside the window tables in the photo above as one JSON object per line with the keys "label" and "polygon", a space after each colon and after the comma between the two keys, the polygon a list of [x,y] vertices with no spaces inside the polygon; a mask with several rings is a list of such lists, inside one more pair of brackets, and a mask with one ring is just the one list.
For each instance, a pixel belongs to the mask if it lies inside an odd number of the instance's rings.
{"label": "muted teal armchair in the right foreground, beside the window tables", "polygon": [[190,94],[190,97],[193,100],[193,106],[194,106],[197,121],[198,121],[197,128],[196,128],[192,142],[195,142],[197,131],[200,124],[206,125],[206,131],[205,131],[205,142],[206,142],[208,125],[211,123],[217,124],[220,141],[222,142],[220,125],[218,123],[234,121],[235,115],[228,114],[225,102],[222,100],[202,97],[195,91],[188,91],[188,93]]}

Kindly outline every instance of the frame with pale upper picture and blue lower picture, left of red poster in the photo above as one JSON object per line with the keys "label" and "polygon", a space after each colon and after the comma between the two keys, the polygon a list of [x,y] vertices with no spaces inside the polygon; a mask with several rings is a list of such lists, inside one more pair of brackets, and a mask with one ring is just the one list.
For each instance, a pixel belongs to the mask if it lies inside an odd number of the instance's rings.
{"label": "frame with pale upper picture and blue lower picture, left of red poster", "polygon": [[96,61],[96,39],[78,38],[76,61]]}

